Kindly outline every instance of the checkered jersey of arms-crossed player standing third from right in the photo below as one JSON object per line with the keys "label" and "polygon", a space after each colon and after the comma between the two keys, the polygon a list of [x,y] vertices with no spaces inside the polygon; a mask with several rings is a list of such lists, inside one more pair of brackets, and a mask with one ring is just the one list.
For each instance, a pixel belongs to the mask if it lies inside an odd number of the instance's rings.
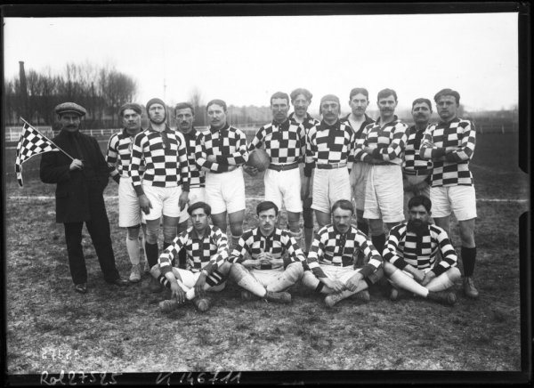
{"label": "checkered jersey of arms-crossed player standing third from right", "polygon": [[[354,159],[367,163],[373,163],[373,159],[375,159],[377,162],[401,165],[402,151],[408,139],[407,130],[408,125],[396,116],[391,123],[384,125],[380,124],[380,118],[378,118],[375,123],[369,124],[363,129],[360,139],[356,142]],[[373,155],[365,152],[364,147],[373,148]]]}

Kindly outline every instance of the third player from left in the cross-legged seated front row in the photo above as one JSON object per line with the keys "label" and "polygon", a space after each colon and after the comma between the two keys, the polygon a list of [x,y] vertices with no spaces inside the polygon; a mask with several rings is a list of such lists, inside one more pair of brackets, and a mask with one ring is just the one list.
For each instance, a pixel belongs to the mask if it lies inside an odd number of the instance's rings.
{"label": "third player from left in the cross-legged seated front row", "polygon": [[[382,278],[382,256],[378,254],[368,237],[352,226],[354,207],[346,199],[332,206],[334,223],[321,228],[313,240],[308,255],[312,271],[303,274],[303,285],[321,294],[328,294],[325,303],[332,308],[337,302],[359,294],[369,301],[368,287]],[[354,269],[358,252],[363,251],[363,268]]]}

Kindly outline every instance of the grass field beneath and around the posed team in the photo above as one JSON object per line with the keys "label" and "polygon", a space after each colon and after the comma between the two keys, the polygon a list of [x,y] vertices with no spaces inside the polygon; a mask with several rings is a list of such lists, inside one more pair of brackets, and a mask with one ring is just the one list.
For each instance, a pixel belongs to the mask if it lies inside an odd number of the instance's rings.
{"label": "grass field beneath and around the posed team", "polygon": [[[54,200],[15,198],[53,197],[54,186],[39,182],[36,157],[25,164],[20,189],[12,174],[14,157],[7,151],[7,370],[519,371],[518,219],[529,203],[489,201],[530,198],[527,175],[517,168],[517,141],[517,134],[477,138],[472,171],[479,215],[478,301],[466,299],[457,284],[458,302],[452,308],[413,298],[392,303],[383,279],[371,288],[370,303],[348,299],[328,311],[323,297],[300,284],[291,290],[293,303],[282,306],[241,302],[239,287],[229,281],[223,292],[211,295],[213,307],[206,313],[187,305],[169,315],[158,312],[166,295],[150,294],[148,277],[125,288],[104,283],[86,231],[89,293],[73,292]],[[263,197],[261,175],[246,175],[245,181],[247,198]],[[117,195],[115,182],[109,182],[105,195]],[[255,226],[257,202],[247,201],[245,229]],[[117,227],[117,199],[106,203],[117,268],[127,277],[130,264],[125,230]],[[452,230],[459,254],[456,225]]]}

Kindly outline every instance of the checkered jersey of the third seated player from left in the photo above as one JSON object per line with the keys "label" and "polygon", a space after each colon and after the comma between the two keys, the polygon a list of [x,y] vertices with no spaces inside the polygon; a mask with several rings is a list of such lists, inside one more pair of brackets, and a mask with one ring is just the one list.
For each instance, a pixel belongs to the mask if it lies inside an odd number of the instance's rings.
{"label": "checkered jersey of the third seated player from left", "polygon": [[360,273],[367,277],[382,265],[382,256],[367,236],[352,225],[346,233],[340,233],[334,224],[329,224],[322,227],[317,237],[313,238],[312,249],[308,254],[308,265],[316,277],[326,278],[320,268],[321,265],[354,266],[355,258],[360,251],[368,262]]}

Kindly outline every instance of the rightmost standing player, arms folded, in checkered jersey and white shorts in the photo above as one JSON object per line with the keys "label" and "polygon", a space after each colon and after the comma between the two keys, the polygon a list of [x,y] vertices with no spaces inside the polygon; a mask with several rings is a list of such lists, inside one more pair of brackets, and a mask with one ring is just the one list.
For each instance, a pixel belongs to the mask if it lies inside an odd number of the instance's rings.
{"label": "rightmost standing player, arms folded, in checkered jersey and white shorts", "polygon": [[430,199],[434,206],[433,220],[450,236],[450,214],[454,212],[460,226],[462,239],[462,279],[465,295],[478,297],[474,287],[473,271],[476,260],[474,244],[474,220],[476,197],[469,160],[473,158],[476,131],[469,120],[457,117],[460,94],[443,89],[434,96],[440,116],[438,125],[430,126],[421,144],[421,157],[432,159],[433,171]]}

